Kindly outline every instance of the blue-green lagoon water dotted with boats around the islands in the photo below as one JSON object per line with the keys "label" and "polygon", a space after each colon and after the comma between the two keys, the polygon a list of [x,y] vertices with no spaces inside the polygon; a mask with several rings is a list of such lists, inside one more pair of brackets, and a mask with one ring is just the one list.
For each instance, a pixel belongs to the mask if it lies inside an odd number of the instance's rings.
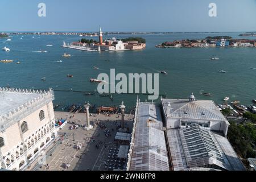
{"label": "blue-green lagoon water dotted with boats around the islands", "polygon": [[[10,52],[0,51],[0,60],[20,61],[20,64],[0,64],[0,86],[9,84],[13,88],[59,89],[94,91],[97,84],[90,78],[99,73],[108,73],[115,68],[116,73],[159,73],[159,93],[168,98],[188,98],[192,92],[197,99],[214,100],[222,104],[224,97],[230,101],[239,100],[249,105],[256,99],[256,48],[155,48],[156,44],[181,39],[203,39],[207,36],[229,35],[240,38],[240,32],[216,34],[152,34],[136,35],[146,39],[147,47],[140,51],[86,52],[60,47],[63,41],[70,43],[81,39],[74,35],[15,35],[10,42],[0,39],[0,47],[8,47]],[[32,38],[34,36],[35,38]],[[104,38],[126,38],[134,35],[111,35]],[[97,39],[95,37],[94,39]],[[250,38],[248,38],[250,39]],[[52,44],[52,47],[47,47]],[[38,52],[44,50],[47,52]],[[64,53],[72,57],[64,58]],[[210,60],[220,57],[220,60]],[[62,63],[57,61],[62,60]],[[105,61],[105,60],[110,60]],[[100,69],[93,69],[96,66]],[[219,73],[220,70],[226,73]],[[73,75],[73,78],[67,75]],[[46,77],[46,81],[41,80]],[[212,97],[200,92],[212,93]],[[145,100],[147,96],[139,96]],[[125,102],[127,109],[135,105],[136,95],[113,94],[109,97],[84,96],[76,92],[55,92],[54,104],[119,105]]]}

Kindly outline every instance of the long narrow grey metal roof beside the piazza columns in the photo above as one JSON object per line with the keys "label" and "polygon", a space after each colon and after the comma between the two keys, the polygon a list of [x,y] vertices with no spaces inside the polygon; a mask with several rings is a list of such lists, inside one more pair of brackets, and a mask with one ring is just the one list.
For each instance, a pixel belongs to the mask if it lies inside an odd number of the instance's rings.
{"label": "long narrow grey metal roof beside the piazza columns", "polygon": [[139,102],[131,171],[169,171],[160,107]]}

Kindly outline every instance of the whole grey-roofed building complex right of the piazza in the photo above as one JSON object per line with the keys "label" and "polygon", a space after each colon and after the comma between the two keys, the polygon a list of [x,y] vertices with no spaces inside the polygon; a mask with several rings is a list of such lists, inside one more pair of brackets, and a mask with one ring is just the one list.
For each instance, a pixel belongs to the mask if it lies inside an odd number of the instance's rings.
{"label": "whole grey-roofed building complex right of the piazza", "polygon": [[213,101],[137,100],[127,169],[243,171],[226,138],[229,122]]}

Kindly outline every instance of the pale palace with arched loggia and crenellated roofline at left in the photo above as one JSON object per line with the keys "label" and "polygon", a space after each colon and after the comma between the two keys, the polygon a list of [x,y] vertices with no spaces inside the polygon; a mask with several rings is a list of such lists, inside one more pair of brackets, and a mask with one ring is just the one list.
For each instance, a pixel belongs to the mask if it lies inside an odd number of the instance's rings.
{"label": "pale palace with arched loggia and crenellated roofline at left", "polygon": [[0,88],[0,168],[23,170],[57,136],[52,90]]}

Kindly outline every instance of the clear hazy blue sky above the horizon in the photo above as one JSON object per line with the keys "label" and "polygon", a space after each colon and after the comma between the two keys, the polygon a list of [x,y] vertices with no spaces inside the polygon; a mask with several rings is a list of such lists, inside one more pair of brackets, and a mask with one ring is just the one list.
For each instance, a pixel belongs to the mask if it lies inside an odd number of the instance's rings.
{"label": "clear hazy blue sky above the horizon", "polygon": [[1,0],[0,17],[0,31],[256,31],[256,0]]}

